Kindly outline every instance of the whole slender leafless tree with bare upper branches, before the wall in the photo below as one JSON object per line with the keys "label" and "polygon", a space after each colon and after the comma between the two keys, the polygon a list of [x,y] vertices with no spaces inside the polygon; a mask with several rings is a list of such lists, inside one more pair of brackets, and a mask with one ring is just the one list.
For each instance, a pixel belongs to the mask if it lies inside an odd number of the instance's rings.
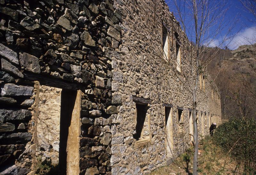
{"label": "whole slender leafless tree with bare upper branches, before the wall", "polygon": [[[172,0],[172,4],[175,5],[175,16],[178,18],[182,29],[191,41],[191,45],[186,48],[189,51],[189,70],[181,71],[182,63],[178,59],[168,61],[175,75],[192,95],[191,103],[193,107],[192,118],[194,131],[193,174],[196,175],[198,174],[198,127],[196,110],[197,104],[199,103],[197,95],[200,93],[198,92],[199,79],[201,75],[205,74],[207,65],[219,54],[220,48],[224,47],[224,44],[226,46],[231,41],[231,37],[234,36],[232,29],[235,26],[234,21],[236,20],[227,21],[224,18],[228,11],[225,0]],[[226,30],[226,34],[219,36],[224,29]],[[207,52],[208,47],[212,46],[216,47],[213,48],[212,54],[206,56],[205,52]],[[165,54],[165,52],[163,53]],[[166,54],[164,58],[167,58]],[[215,79],[209,80],[210,84]]]}

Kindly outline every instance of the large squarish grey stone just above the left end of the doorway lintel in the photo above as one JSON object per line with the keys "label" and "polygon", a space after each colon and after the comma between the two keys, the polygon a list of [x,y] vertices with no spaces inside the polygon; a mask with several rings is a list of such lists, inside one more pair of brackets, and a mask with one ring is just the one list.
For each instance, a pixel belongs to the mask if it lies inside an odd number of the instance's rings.
{"label": "large squarish grey stone just above the left end of the doorway lintel", "polygon": [[20,53],[20,65],[27,71],[40,73],[39,59],[33,55]]}

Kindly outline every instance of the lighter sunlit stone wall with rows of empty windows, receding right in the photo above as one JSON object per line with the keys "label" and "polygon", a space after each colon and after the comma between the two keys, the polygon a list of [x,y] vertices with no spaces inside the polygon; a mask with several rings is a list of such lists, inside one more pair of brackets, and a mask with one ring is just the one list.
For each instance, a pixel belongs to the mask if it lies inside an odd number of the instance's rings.
{"label": "lighter sunlit stone wall with rows of empty windows, receding right", "polygon": [[[163,25],[166,26],[170,38],[169,59],[176,61],[176,32],[181,43],[182,71],[187,75],[190,71],[190,43],[163,0],[115,0],[114,7],[123,14],[123,43],[119,46],[121,54],[112,60],[113,99],[120,99],[118,114],[112,115],[112,173],[144,174],[170,163],[189,147],[188,109],[192,109],[192,95],[175,76],[170,64],[164,60]],[[207,72],[205,74],[207,75]],[[211,98],[210,79],[208,76],[208,81],[205,81],[205,91],[198,90],[197,95],[200,138],[203,137],[203,133],[209,134],[209,119],[204,117],[204,113],[206,112],[206,116],[209,113],[221,115],[220,103],[217,99]],[[133,139],[136,132],[136,102],[133,101],[133,97],[152,100],[152,103],[148,104],[149,139]],[[173,106],[171,157],[166,155],[163,103]],[[178,122],[178,107],[184,109],[181,115],[182,122]]]}

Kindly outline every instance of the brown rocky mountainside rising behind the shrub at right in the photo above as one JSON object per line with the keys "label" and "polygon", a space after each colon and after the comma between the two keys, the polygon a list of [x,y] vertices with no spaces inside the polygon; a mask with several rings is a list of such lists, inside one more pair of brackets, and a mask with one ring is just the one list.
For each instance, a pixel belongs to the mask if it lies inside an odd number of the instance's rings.
{"label": "brown rocky mountainside rising behind the shrub at right", "polygon": [[242,45],[234,51],[221,50],[208,65],[208,71],[212,77],[219,73],[216,81],[223,117],[256,116],[256,44]]}

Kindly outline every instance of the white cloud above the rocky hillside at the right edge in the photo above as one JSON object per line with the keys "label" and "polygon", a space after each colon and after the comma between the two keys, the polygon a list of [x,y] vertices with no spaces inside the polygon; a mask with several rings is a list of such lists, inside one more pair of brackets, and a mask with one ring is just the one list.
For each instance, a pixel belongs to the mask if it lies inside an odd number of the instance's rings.
{"label": "white cloud above the rocky hillside at the right edge", "polygon": [[256,43],[256,27],[245,28],[232,39],[228,48],[235,50],[240,45],[250,45]]}

